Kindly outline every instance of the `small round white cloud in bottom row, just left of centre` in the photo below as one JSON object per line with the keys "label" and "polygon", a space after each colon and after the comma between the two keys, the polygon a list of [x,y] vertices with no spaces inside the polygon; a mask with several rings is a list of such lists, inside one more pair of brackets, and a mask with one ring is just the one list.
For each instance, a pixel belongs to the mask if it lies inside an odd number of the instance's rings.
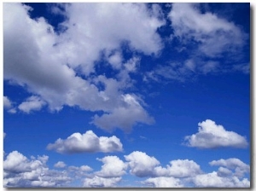
{"label": "small round white cloud in bottom row, just left of centre", "polygon": [[117,156],[107,156],[102,159],[98,159],[102,161],[104,165],[102,165],[101,171],[96,171],[96,176],[98,177],[121,177],[125,175],[125,170],[127,165],[120,160]]}

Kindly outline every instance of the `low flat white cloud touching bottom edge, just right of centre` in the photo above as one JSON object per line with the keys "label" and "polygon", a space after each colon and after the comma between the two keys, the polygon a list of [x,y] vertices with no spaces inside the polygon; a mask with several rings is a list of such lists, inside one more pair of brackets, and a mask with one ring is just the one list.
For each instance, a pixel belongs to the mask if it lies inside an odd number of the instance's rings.
{"label": "low flat white cloud touching bottom edge, just right of centre", "polygon": [[142,183],[154,188],[183,188],[183,184],[175,177],[150,177]]}

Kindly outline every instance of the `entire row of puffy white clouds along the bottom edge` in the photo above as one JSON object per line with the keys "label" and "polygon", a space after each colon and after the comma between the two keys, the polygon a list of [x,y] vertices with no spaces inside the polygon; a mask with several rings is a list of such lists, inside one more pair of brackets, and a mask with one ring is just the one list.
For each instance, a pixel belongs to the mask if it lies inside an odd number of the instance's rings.
{"label": "entire row of puffy white clouds along the bottom edge", "polygon": [[246,178],[250,167],[236,158],[212,160],[209,165],[220,166],[218,171],[204,172],[200,165],[189,159],[172,160],[171,165],[162,167],[159,160],[140,151],[124,157],[125,161],[117,156],[97,159],[103,163],[100,171],[93,171],[88,165],[68,166],[58,161],[54,167],[62,170],[56,171],[47,166],[48,156],[27,159],[23,154],[13,151],[3,161],[3,185],[8,188],[71,187],[79,181],[80,187],[113,188],[119,182],[125,182],[124,175],[130,171],[131,176],[147,177],[140,181],[146,187],[250,187],[250,181]]}

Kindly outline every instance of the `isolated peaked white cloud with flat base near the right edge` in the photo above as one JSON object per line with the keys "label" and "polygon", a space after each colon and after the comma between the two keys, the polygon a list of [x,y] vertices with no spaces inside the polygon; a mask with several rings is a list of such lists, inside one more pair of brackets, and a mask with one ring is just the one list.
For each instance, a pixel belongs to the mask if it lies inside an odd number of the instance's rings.
{"label": "isolated peaked white cloud with flat base near the right edge", "polygon": [[215,124],[207,119],[198,124],[198,133],[192,136],[185,136],[186,145],[195,148],[247,148],[245,137],[236,132],[225,130],[222,125]]}

